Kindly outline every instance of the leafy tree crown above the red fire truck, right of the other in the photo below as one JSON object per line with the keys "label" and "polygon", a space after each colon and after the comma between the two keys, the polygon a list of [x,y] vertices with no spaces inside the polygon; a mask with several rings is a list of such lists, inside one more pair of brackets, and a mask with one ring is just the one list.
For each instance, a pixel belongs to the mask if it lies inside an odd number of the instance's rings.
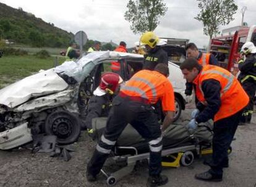
{"label": "leafy tree crown above the red fire truck, right of the other", "polygon": [[234,0],[197,0],[200,13],[196,20],[203,22],[203,33],[213,38],[219,34],[220,25],[228,25],[234,20],[237,6]]}

